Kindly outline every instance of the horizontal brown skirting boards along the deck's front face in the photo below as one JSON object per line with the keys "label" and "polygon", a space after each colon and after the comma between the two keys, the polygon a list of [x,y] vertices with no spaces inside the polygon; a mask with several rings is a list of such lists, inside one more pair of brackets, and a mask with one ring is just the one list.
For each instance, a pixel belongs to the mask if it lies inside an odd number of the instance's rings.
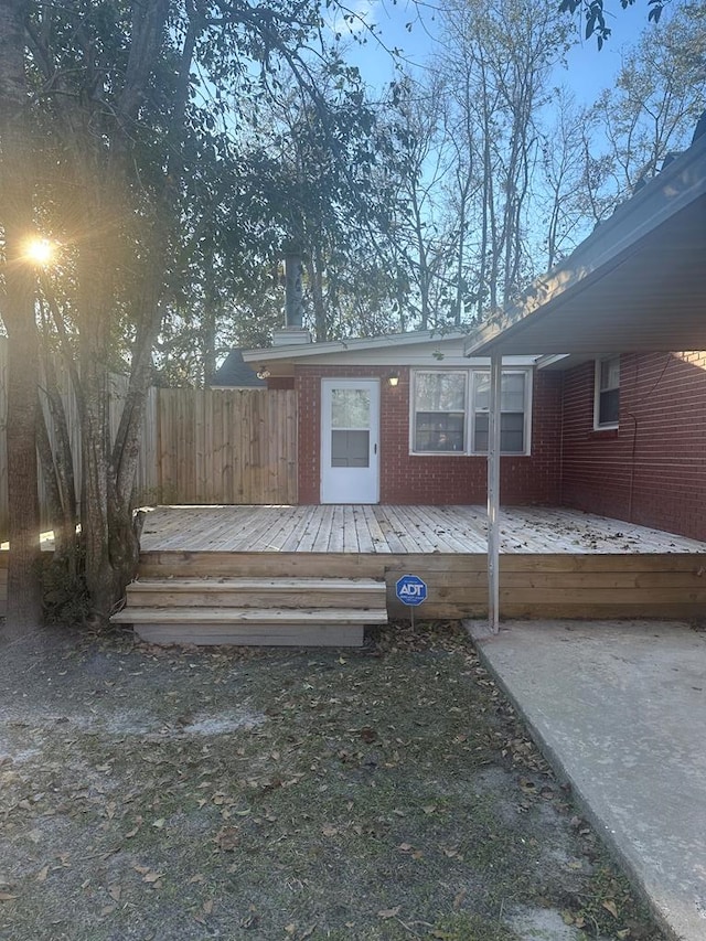
{"label": "horizontal brown skirting boards along the deck's front face", "polygon": [[[387,612],[409,617],[395,585],[418,575],[428,587],[417,619],[484,617],[484,553],[188,553],[148,552],[141,577],[377,578]],[[500,560],[504,618],[698,618],[706,616],[706,553],[526,554]]]}

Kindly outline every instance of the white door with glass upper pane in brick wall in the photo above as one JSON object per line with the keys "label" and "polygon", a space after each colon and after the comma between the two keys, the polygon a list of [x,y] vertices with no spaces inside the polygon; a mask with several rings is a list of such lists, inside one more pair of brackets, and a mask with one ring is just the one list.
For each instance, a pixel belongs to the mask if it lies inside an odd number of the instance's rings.
{"label": "white door with glass upper pane in brick wall", "polygon": [[379,383],[321,381],[321,502],[379,500]]}

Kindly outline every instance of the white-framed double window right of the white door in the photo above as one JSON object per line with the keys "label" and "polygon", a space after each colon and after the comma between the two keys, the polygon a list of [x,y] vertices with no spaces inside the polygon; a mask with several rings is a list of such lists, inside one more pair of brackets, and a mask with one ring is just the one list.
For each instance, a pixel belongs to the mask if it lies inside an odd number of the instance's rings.
{"label": "white-framed double window right of the white door", "polygon": [[[490,371],[414,374],[413,453],[488,453]],[[504,455],[530,453],[532,371],[503,370],[500,440]]]}

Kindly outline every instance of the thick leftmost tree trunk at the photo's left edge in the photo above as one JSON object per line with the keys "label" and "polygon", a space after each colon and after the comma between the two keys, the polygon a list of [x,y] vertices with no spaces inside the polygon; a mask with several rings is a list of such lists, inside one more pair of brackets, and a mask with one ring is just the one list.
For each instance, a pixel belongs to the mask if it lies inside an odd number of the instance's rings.
{"label": "thick leftmost tree trunk at the photo's left edge", "polygon": [[35,272],[23,258],[32,233],[31,142],[24,76],[22,0],[0,0],[0,224],[4,229],[2,319],[8,331],[8,500],[10,558],[6,633],[41,622],[40,509],[35,430],[39,352]]}

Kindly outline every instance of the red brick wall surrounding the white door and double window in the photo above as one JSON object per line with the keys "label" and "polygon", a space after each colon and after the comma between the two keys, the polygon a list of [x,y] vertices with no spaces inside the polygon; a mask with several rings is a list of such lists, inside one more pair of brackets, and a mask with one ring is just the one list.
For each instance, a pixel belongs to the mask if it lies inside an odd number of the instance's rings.
{"label": "red brick wall surrounding the white door and double window", "polygon": [[[400,370],[391,388],[391,367],[297,368],[299,392],[299,501],[319,503],[321,378],[381,378],[381,503],[484,503],[484,457],[413,456],[409,453],[409,371]],[[531,457],[504,457],[501,467],[503,503],[548,503],[559,499],[561,377],[535,377]]]}

